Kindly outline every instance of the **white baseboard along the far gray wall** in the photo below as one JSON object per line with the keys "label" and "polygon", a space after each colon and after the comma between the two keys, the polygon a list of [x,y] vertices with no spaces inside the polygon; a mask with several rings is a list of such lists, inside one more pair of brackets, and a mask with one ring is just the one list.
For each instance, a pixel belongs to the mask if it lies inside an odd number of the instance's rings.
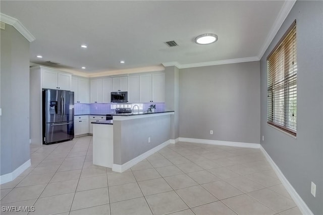
{"label": "white baseboard along the far gray wall", "polygon": [[230,141],[222,141],[222,140],[206,140],[206,139],[194,139],[194,138],[184,138],[184,137],[180,137],[179,141],[191,142],[191,143],[203,143],[203,144],[211,144],[211,145],[236,146],[236,147],[245,147],[245,148],[260,148],[260,144],[258,143],[230,142]]}

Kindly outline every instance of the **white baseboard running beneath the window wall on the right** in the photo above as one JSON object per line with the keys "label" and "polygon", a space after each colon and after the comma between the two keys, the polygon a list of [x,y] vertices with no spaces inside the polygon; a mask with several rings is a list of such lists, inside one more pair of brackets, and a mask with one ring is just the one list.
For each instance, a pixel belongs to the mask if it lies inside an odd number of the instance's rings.
{"label": "white baseboard running beneath the window wall on the right", "polygon": [[281,180],[282,184],[284,185],[284,187],[286,188],[286,190],[288,191],[288,193],[290,194],[290,196],[292,197],[292,199],[294,200],[294,202],[296,203],[296,205],[298,206],[298,208],[300,209],[300,211],[302,212],[302,214],[312,215],[313,212],[308,208],[308,206],[306,205],[306,203],[298,195],[298,193],[296,192],[296,190],[294,189],[294,187],[289,183],[289,181],[284,176],[284,174],[282,173],[282,171],[275,164],[274,160],[264,150],[264,148],[261,145],[260,145],[260,150],[262,151],[262,153],[264,154],[264,156],[266,157],[266,159],[268,160],[268,162],[270,163],[270,165],[274,169],[276,175]]}

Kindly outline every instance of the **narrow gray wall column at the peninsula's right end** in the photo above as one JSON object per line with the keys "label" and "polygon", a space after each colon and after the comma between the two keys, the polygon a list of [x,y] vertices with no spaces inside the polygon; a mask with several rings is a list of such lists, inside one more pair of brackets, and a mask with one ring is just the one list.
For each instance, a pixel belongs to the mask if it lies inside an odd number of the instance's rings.
{"label": "narrow gray wall column at the peninsula's right end", "polygon": [[179,69],[165,68],[165,110],[175,111],[171,116],[171,139],[179,137]]}

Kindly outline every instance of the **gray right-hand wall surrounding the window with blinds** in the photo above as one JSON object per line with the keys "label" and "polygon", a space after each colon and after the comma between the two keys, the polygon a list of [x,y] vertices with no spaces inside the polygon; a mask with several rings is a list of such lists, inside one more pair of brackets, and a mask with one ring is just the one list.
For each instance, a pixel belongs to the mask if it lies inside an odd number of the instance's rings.
{"label": "gray right-hand wall surrounding the window with blinds", "polygon": [[[296,19],[297,138],[266,124],[266,58]],[[261,145],[314,214],[323,214],[323,2],[297,1],[261,62]],[[310,193],[316,184],[316,198]]]}

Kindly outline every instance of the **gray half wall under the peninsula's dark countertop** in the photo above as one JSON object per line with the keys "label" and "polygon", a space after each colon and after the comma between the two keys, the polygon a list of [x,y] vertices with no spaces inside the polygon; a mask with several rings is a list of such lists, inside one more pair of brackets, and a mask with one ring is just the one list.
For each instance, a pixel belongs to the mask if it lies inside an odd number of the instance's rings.
{"label": "gray half wall under the peninsula's dark countertop", "polygon": [[[123,165],[170,139],[170,116],[114,121],[114,164]],[[150,143],[148,143],[150,137]]]}

